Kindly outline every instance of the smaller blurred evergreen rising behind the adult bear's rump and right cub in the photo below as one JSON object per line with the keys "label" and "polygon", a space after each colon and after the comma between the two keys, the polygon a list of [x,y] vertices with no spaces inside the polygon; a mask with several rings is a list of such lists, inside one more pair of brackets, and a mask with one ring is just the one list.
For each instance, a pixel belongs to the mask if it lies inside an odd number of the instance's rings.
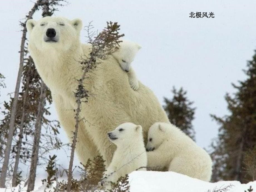
{"label": "smaller blurred evergreen rising behind the adult bear's rump and right cub", "polygon": [[187,92],[182,87],[178,91],[173,87],[172,93],[172,99],[164,97],[164,110],[170,122],[195,141],[195,130],[193,129],[192,120],[194,119],[196,108],[191,106],[194,102],[188,100]]}

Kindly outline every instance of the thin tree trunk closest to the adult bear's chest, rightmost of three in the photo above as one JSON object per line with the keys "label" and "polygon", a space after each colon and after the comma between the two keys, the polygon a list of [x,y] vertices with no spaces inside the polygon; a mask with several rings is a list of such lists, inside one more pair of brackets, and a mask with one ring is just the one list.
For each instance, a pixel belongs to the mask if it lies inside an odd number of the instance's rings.
{"label": "thin tree trunk closest to the adult bear's chest, rightmost of three", "polygon": [[34,141],[33,141],[32,155],[31,155],[31,166],[29,170],[28,188],[27,188],[28,192],[33,191],[35,187],[36,167],[38,163],[38,151],[39,151],[39,142],[40,142],[41,128],[42,128],[42,118],[45,110],[45,97],[46,97],[46,85],[42,81],[40,99],[38,104],[38,113],[36,116]]}

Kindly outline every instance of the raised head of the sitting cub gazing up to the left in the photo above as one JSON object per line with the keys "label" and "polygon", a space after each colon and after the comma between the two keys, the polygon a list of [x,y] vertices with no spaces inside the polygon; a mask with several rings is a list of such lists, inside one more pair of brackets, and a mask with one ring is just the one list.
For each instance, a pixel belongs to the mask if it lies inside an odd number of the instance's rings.
{"label": "raised head of the sitting cub gazing up to the left", "polygon": [[136,142],[137,140],[143,141],[141,125],[133,123],[123,123],[115,130],[108,132],[111,142],[117,146],[126,145]]}

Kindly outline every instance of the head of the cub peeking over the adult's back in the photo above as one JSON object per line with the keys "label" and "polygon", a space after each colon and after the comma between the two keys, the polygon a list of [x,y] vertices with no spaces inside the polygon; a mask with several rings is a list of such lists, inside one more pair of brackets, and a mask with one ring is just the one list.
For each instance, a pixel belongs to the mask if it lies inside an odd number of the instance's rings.
{"label": "head of the cub peeking over the adult's back", "polygon": [[130,70],[131,63],[141,46],[137,43],[127,40],[122,40],[122,42],[119,43],[119,46],[119,50],[112,53],[112,55],[118,61],[122,70],[128,72]]}

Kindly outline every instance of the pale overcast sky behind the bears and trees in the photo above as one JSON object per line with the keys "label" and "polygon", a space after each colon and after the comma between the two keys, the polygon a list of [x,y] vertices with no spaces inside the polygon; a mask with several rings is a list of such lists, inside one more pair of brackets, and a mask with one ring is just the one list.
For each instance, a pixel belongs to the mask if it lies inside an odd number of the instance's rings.
{"label": "pale overcast sky behind the bears and trees", "polygon": [[[14,91],[21,39],[19,20],[32,6],[29,0],[0,3],[0,72],[7,84],[0,101],[8,100],[7,94]],[[106,21],[117,21],[124,39],[142,46],[132,63],[139,80],[162,104],[163,97],[171,97],[173,86],[187,90],[196,107],[196,142],[208,147],[218,132],[209,114],[228,114],[224,95],[234,92],[232,82],[245,78],[242,69],[254,54],[255,7],[255,0],[73,0],[59,8],[55,16],[80,18],[84,26],[93,21],[99,30]],[[213,12],[215,18],[189,18],[191,12]],[[36,13],[34,19],[40,17],[41,13]],[[83,42],[84,36],[83,30]],[[54,107],[52,111],[56,117]]]}

